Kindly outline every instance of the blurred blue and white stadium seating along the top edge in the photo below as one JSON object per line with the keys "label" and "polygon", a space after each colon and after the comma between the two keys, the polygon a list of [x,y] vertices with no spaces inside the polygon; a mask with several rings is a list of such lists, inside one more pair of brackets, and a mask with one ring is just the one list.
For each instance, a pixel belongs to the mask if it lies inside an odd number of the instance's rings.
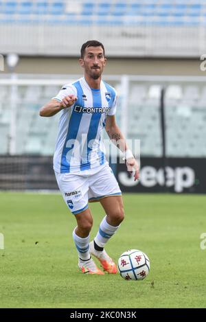
{"label": "blurred blue and white stadium seating along the top edge", "polygon": [[[206,1],[80,1],[80,10],[69,19],[67,1],[9,0],[0,1],[0,23],[82,23],[136,25],[205,25]],[[31,17],[30,17],[31,16]],[[108,19],[106,17],[109,17]],[[137,17],[137,19],[135,19]],[[143,17],[143,19],[141,19]],[[201,19],[203,17],[203,19]],[[184,19],[183,19],[184,18]]]}

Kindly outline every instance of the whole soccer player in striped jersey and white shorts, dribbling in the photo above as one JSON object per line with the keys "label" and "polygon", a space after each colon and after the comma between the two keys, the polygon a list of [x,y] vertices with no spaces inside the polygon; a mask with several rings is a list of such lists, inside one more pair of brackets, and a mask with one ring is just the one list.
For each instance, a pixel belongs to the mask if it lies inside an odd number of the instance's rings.
{"label": "whole soccer player in striped jersey and white shorts, dribbling", "polygon": [[[98,258],[104,271],[115,274],[117,266],[104,246],[124,219],[122,194],[102,148],[102,130],[122,150],[128,170],[139,177],[137,161],[115,123],[117,93],[102,81],[106,65],[104,45],[87,41],[81,48],[80,65],[84,77],[65,84],[58,95],[40,110],[50,117],[61,111],[54,153],[54,172],[65,203],[75,216],[73,240],[82,273],[103,275],[91,255]],[[93,218],[89,201],[100,201],[106,216],[94,240],[89,243]]]}

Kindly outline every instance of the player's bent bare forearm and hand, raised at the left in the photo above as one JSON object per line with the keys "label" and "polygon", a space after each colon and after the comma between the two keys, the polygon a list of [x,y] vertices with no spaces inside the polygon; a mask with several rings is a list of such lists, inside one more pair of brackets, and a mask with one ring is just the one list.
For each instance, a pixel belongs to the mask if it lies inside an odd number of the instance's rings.
{"label": "player's bent bare forearm and hand, raised at the left", "polygon": [[61,102],[58,102],[57,100],[50,100],[47,104],[41,107],[39,115],[44,117],[53,116],[63,108],[72,106],[76,100],[77,97],[74,95],[64,97]]}

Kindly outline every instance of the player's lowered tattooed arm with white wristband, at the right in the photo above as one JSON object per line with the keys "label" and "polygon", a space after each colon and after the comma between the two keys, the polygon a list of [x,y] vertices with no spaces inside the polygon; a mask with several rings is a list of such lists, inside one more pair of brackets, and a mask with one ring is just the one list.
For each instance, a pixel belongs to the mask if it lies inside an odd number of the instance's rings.
{"label": "player's lowered tattooed arm with white wristband, at the right", "polygon": [[107,115],[105,129],[111,141],[124,153],[124,160],[126,160],[126,167],[130,173],[135,171],[134,180],[139,179],[139,166],[133,153],[126,144],[126,139],[122,135],[121,130],[115,122],[115,115]]}

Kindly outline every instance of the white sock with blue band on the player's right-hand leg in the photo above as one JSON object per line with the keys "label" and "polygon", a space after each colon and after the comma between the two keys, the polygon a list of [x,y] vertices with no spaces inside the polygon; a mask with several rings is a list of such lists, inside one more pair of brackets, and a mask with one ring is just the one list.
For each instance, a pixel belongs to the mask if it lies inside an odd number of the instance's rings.
{"label": "white sock with blue band on the player's right-hand leg", "polygon": [[114,233],[117,231],[119,227],[120,225],[116,227],[109,225],[108,222],[106,221],[106,216],[105,216],[102,219],[102,222],[100,223],[99,231],[96,237],[94,238],[95,243],[99,247],[104,247],[106,242],[108,242],[108,240],[114,235]]}

